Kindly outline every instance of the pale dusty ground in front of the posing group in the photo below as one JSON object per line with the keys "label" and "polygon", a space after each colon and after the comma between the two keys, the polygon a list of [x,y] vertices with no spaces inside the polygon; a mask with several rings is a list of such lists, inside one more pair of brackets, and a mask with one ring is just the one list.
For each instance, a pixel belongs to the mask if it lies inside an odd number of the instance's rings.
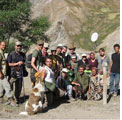
{"label": "pale dusty ground in front of the posing group", "polygon": [[[26,95],[31,90],[29,79],[25,79]],[[23,93],[23,92],[22,92]],[[54,108],[33,116],[22,116],[25,102],[19,107],[0,105],[0,119],[120,119],[120,96],[112,97],[107,105],[103,101],[56,101]]]}

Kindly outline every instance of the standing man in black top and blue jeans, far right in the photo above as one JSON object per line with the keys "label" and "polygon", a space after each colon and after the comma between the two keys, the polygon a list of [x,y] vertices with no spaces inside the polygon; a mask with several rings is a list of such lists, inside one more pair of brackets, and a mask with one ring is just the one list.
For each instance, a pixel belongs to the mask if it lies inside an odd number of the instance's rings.
{"label": "standing man in black top and blue jeans, far right", "polygon": [[[110,69],[108,74],[110,75],[110,95],[118,95],[118,87],[120,82],[120,45],[114,45],[115,53],[111,56]],[[115,88],[114,88],[115,81]]]}

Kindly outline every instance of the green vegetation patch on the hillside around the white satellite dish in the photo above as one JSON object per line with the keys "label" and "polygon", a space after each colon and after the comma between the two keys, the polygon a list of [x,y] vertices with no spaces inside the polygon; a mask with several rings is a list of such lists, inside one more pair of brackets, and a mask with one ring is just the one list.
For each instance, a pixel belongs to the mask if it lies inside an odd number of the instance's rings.
{"label": "green vegetation patch on the hillside around the white satellite dish", "polygon": [[99,45],[119,25],[119,11],[113,11],[109,7],[99,6],[91,9],[88,20],[81,25],[81,34],[74,36],[74,39],[82,48],[94,50],[94,43],[90,41],[91,34],[93,32],[99,33],[97,41],[97,45]]}

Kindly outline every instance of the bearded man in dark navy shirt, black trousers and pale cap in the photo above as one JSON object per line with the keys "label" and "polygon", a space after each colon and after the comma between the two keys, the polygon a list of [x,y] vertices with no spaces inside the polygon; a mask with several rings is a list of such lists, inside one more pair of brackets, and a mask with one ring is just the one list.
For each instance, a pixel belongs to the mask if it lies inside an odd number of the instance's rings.
{"label": "bearded man in dark navy shirt, black trousers and pale cap", "polygon": [[22,43],[16,42],[15,44],[15,50],[12,51],[8,55],[8,64],[11,69],[10,73],[10,84],[13,88],[13,84],[15,83],[15,97],[17,104],[20,103],[20,94],[22,90],[22,82],[23,82],[23,70],[25,66],[25,54],[21,52],[22,50]]}

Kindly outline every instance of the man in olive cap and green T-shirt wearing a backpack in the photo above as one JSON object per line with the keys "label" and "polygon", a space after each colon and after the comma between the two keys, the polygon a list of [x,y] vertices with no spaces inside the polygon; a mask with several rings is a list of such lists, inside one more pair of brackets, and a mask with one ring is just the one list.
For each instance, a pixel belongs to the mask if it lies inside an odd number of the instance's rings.
{"label": "man in olive cap and green T-shirt wearing a backpack", "polygon": [[42,40],[37,41],[37,47],[32,53],[31,59],[31,82],[32,87],[35,86],[35,73],[39,71],[39,66],[43,64],[43,57],[42,57],[42,49],[43,49],[44,42]]}

